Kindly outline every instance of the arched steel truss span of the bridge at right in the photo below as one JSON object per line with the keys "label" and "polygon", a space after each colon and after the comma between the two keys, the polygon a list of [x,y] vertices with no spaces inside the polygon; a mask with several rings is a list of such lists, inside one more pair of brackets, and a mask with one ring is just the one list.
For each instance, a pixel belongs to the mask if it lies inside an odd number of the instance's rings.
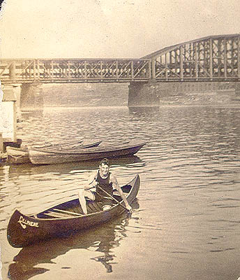
{"label": "arched steel truss span of the bridge at right", "polygon": [[211,36],[167,47],[143,58],[157,81],[239,80],[240,36]]}

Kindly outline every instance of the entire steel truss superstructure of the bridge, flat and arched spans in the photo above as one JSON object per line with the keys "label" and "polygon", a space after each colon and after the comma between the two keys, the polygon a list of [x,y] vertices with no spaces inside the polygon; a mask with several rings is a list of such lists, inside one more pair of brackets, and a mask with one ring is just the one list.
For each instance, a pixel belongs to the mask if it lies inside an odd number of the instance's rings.
{"label": "entire steel truss superstructure of the bridge, flat and arched spans", "polygon": [[1,59],[2,83],[238,81],[240,34],[207,36],[141,59]]}

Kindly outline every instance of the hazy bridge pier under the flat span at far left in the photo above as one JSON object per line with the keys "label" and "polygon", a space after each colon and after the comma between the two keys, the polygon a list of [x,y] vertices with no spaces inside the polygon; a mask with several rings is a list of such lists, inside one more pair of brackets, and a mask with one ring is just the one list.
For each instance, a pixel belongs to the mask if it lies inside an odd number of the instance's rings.
{"label": "hazy bridge pier under the flat span at far left", "polygon": [[23,83],[20,99],[21,109],[43,109],[43,84]]}

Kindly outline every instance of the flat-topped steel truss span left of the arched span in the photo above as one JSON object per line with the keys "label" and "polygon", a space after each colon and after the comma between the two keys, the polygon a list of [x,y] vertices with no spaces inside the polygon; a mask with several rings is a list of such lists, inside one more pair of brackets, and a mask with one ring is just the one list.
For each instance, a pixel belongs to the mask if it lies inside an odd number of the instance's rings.
{"label": "flat-topped steel truss span left of the arched span", "polygon": [[151,59],[1,59],[10,83],[84,83],[149,80]]}

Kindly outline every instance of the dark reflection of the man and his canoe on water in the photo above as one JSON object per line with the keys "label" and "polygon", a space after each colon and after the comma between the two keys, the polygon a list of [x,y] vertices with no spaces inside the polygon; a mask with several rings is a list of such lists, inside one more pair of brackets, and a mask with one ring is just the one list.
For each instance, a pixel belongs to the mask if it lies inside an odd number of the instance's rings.
{"label": "dark reflection of the man and his canoe on water", "polygon": [[[139,209],[137,200],[131,204],[133,209]],[[20,253],[15,255],[13,263],[8,267],[8,278],[11,280],[27,280],[38,274],[43,274],[49,269],[43,266],[47,263],[56,263],[55,258],[64,255],[73,249],[87,249],[89,251],[99,252],[100,254],[90,260],[100,262],[106,269],[107,273],[112,272],[113,265],[117,265],[114,259],[113,249],[120,246],[120,241],[127,237],[126,226],[130,217],[123,214],[117,220],[103,225],[101,228],[95,228],[86,232],[78,232],[67,238],[50,239],[22,248]],[[81,261],[81,253],[77,256]],[[70,268],[70,267],[64,267]]]}

